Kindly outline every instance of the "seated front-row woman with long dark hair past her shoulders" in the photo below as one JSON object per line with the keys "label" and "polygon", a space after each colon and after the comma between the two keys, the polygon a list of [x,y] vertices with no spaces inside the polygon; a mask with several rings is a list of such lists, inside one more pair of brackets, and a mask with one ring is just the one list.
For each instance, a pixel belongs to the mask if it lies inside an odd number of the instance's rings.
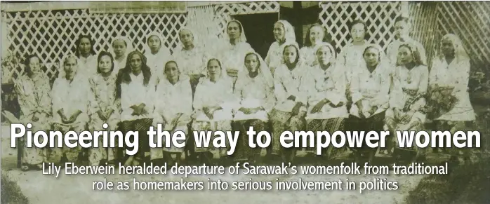
{"label": "seated front-row woman with long dark hair past her shoulders", "polygon": [[138,131],[139,151],[128,156],[125,165],[140,165],[150,152],[147,130],[153,122],[155,82],[145,55],[139,51],[128,54],[126,67],[117,74],[117,98],[121,101],[121,130]]}

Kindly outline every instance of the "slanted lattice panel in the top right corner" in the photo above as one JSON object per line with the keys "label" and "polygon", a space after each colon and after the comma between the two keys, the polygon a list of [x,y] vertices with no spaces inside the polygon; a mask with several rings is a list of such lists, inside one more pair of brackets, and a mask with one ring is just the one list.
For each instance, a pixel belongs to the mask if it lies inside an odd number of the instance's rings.
{"label": "slanted lattice panel in the top right corner", "polygon": [[[453,33],[477,64],[490,63],[490,4],[486,1],[444,1],[437,5],[438,39]],[[488,69],[488,68],[487,68]]]}

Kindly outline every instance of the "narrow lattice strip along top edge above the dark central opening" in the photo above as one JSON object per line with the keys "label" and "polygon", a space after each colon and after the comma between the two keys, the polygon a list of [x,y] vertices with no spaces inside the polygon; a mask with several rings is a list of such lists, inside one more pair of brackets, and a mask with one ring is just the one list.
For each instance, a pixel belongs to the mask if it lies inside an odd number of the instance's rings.
{"label": "narrow lattice strip along top edge above the dark central opening", "polygon": [[232,19],[232,15],[279,13],[279,8],[279,2],[277,1],[253,1],[241,4],[216,5],[216,17],[220,20],[221,35],[226,34],[226,24],[228,20]]}

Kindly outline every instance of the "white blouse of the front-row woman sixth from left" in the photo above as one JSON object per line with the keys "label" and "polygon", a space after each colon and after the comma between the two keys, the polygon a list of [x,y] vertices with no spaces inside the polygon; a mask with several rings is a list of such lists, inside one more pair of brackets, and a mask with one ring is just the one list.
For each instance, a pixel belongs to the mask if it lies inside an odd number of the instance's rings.
{"label": "white blouse of the front-row woman sixth from left", "polygon": [[[223,73],[224,75],[225,73]],[[215,111],[213,121],[232,120],[232,111],[236,107],[237,100],[233,95],[233,81],[227,76],[221,76],[218,81],[202,79],[196,87],[194,94],[194,110],[196,110],[197,121],[209,121],[209,118],[202,112],[204,107],[219,106],[223,109]]]}

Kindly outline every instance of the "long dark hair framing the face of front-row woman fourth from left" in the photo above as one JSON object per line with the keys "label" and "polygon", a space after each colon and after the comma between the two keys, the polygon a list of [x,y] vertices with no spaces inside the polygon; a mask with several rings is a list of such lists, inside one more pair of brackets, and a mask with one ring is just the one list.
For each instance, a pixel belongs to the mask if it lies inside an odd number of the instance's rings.
{"label": "long dark hair framing the face of front-row woman fourth from left", "polygon": [[117,97],[121,97],[121,83],[131,83],[131,72],[133,72],[133,69],[131,69],[131,58],[133,58],[133,55],[139,55],[141,57],[141,72],[143,72],[143,85],[148,86],[148,83],[150,83],[150,78],[152,78],[152,71],[150,67],[146,64],[146,57],[143,55],[143,53],[140,53],[140,51],[132,51],[131,53],[128,54],[128,57],[126,58],[126,67],[123,69],[119,70],[119,73],[117,74],[117,80],[116,80],[116,85],[117,85],[117,90],[116,90],[116,95]]}

